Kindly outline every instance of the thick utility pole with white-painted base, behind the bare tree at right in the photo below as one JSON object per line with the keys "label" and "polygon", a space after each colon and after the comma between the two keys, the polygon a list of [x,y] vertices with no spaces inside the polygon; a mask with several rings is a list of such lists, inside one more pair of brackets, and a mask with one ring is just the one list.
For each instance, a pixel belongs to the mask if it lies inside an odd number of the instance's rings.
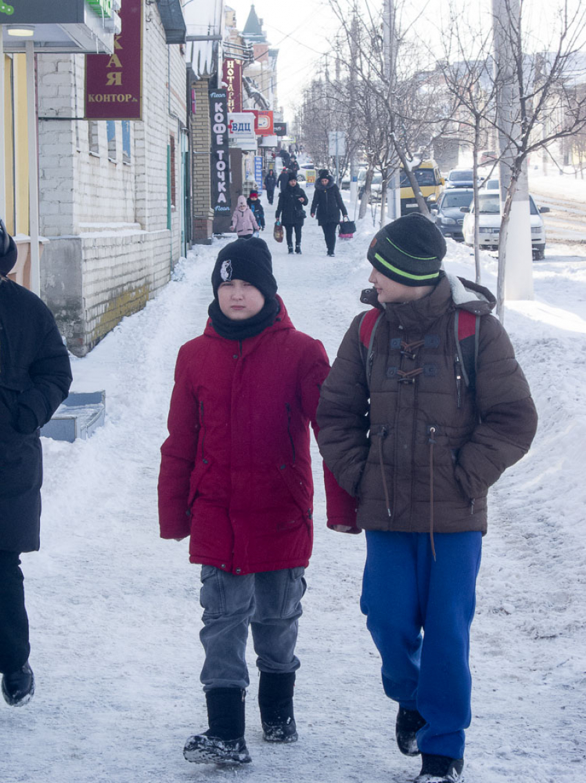
{"label": "thick utility pole with white-painted base, behind the bare tree at right", "polygon": [[[511,174],[517,155],[516,142],[523,133],[525,121],[524,96],[516,70],[516,58],[523,61],[520,44],[519,0],[492,0],[493,33],[495,41],[495,79],[497,85],[498,147],[500,162],[501,215],[505,205]],[[522,67],[522,66],[521,66]],[[533,254],[531,251],[531,215],[529,212],[529,185],[527,161],[523,161],[513,199],[508,229],[499,237],[504,243],[498,253],[498,279],[507,299],[533,299]]]}

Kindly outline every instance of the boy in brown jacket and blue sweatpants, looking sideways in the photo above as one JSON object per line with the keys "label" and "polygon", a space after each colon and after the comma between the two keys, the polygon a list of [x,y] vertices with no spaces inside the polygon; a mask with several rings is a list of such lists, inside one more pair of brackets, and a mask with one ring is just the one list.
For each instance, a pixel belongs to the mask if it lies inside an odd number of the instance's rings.
{"label": "boy in brown jacket and blue sweatpants, looking sideways", "polygon": [[537,427],[495,298],[445,274],[445,251],[422,215],[373,238],[374,309],[352,321],[317,412],[323,459],[358,499],[356,528],[333,527],[366,530],[361,608],[398,747],[422,756],[416,783],[461,780],[488,488]]}

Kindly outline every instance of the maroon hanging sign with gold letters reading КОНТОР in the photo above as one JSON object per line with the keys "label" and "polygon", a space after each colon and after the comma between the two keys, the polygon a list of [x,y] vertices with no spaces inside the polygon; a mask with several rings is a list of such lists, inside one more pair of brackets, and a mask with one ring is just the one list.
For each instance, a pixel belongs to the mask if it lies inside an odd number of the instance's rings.
{"label": "maroon hanging sign with gold letters reading \u041a\u041e\u041d\u0422\u041e\u0420", "polygon": [[85,57],[88,120],[142,119],[142,0],[124,0],[120,20],[113,53]]}

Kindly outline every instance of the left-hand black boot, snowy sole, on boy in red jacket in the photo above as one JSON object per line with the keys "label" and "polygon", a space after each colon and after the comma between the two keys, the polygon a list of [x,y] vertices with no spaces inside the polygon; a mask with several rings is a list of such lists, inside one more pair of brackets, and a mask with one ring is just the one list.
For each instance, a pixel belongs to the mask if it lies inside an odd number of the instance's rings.
{"label": "left-hand black boot, snowy sole, on boy in red jacket", "polygon": [[183,755],[196,764],[248,764],[245,693],[236,687],[206,691],[209,729],[188,738]]}

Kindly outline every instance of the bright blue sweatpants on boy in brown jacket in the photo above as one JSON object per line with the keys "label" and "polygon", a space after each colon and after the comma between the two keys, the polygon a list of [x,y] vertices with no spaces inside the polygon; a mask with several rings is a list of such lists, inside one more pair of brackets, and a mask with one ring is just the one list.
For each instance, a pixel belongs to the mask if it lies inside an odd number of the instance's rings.
{"label": "bright blue sweatpants on boy in brown jacket", "polygon": [[460,759],[470,726],[470,625],[480,532],[366,532],[360,608],[382,658],[384,692],[417,709],[421,752]]}

